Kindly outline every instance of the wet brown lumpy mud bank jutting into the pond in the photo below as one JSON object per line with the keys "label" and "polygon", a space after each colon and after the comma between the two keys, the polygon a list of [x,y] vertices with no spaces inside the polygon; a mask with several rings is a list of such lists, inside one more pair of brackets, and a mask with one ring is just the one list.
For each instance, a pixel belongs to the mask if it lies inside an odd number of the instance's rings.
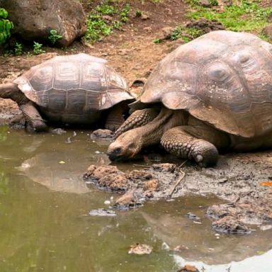
{"label": "wet brown lumpy mud bank jutting into the pond", "polygon": [[84,181],[104,191],[120,193],[117,209],[137,208],[149,200],[171,200],[188,194],[222,199],[206,215],[212,229],[225,234],[249,234],[255,227],[272,227],[272,179],[270,152],[220,156],[214,168],[191,162],[152,164],[142,170],[121,171],[117,166],[89,166]]}

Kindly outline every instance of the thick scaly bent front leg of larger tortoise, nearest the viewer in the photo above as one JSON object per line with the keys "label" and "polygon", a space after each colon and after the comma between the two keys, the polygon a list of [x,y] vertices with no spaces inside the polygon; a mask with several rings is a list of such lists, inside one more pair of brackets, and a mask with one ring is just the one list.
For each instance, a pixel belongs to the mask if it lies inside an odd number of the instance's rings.
{"label": "thick scaly bent front leg of larger tortoise, nearest the viewer", "polygon": [[161,144],[167,152],[184,159],[193,159],[200,166],[206,167],[217,163],[217,148],[228,147],[229,137],[193,118],[191,125],[189,120],[186,126],[164,132]]}

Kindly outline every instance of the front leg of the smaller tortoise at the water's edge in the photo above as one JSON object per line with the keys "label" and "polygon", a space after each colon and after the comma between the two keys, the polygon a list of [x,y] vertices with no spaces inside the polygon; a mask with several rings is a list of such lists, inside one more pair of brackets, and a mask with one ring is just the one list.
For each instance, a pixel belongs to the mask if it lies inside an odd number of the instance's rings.
{"label": "front leg of the smaller tortoise at the water's edge", "polygon": [[48,130],[45,120],[42,119],[37,108],[32,102],[20,106],[23,116],[26,118],[26,130],[28,132],[43,132]]}

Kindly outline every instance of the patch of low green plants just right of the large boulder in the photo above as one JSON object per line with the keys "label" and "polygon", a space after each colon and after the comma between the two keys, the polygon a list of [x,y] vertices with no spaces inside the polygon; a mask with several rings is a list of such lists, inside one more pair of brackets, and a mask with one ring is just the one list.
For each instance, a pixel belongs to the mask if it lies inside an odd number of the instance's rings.
{"label": "patch of low green plants just right of the large boulder", "polygon": [[110,35],[114,28],[121,29],[128,22],[130,5],[119,6],[115,1],[104,1],[89,13],[85,40],[94,43]]}

